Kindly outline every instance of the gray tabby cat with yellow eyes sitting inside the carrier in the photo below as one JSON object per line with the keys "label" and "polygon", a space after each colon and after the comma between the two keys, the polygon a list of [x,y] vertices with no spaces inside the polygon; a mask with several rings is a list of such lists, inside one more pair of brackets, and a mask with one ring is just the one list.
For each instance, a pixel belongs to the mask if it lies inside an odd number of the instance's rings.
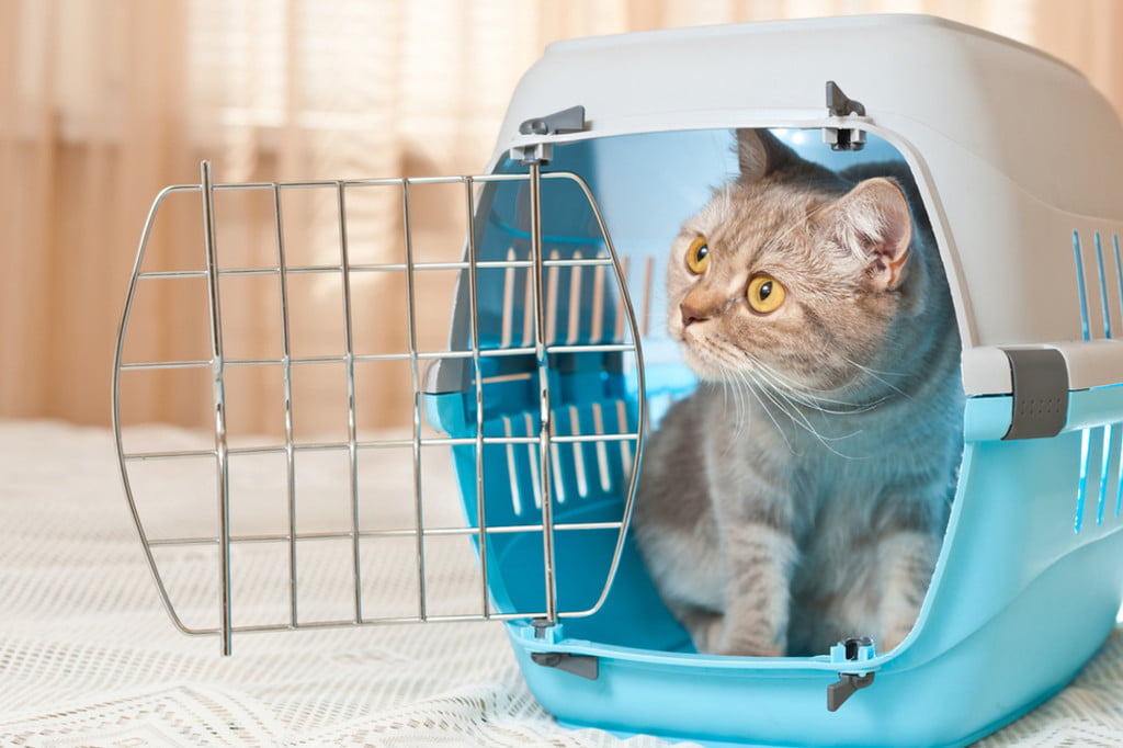
{"label": "gray tabby cat with yellow eyes sitting inside the carrier", "polygon": [[903,165],[836,174],[767,130],[737,139],[739,176],[669,254],[668,332],[701,382],[645,447],[637,545],[699,651],[887,651],[962,451],[937,244]]}

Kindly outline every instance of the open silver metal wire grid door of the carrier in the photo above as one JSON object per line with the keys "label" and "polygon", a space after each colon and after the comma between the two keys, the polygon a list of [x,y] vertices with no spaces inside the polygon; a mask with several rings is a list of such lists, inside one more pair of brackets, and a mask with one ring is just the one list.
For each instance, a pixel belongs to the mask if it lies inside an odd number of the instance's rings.
{"label": "open silver metal wire grid door of the carrier", "polygon": [[[541,182],[544,180],[564,180],[576,185],[584,194],[585,200],[587,200],[592,213],[595,218],[600,235],[602,237],[604,249],[606,256],[603,257],[588,257],[588,258],[546,258],[542,247],[542,228],[541,228]],[[503,261],[478,261],[477,259],[477,246],[476,246],[476,232],[475,232],[475,212],[476,212],[476,198],[474,191],[478,184],[496,183],[496,182],[526,182],[529,185],[529,197],[530,197],[530,256],[527,259],[508,258]],[[433,184],[460,184],[464,186],[464,207],[467,219],[467,239],[466,248],[464,253],[464,259],[460,262],[444,262],[444,263],[419,263],[416,262],[413,256],[413,237],[412,237],[412,210],[410,203],[411,188],[420,185],[433,185]],[[403,243],[404,243],[404,263],[382,263],[382,264],[369,264],[369,265],[358,265],[351,264],[348,258],[348,240],[347,240],[347,206],[346,206],[346,194],[348,189],[353,188],[396,188],[401,193],[401,206],[402,206],[402,217],[403,217]],[[338,267],[325,268],[325,267],[294,267],[290,266],[286,262],[285,255],[285,236],[284,236],[284,225],[282,220],[282,201],[281,195],[283,192],[289,190],[330,190],[334,191],[336,195],[336,210],[338,215],[338,228],[339,228],[339,240],[340,240],[340,258],[341,262]],[[216,240],[216,218],[214,218],[214,194],[216,192],[225,191],[266,191],[272,194],[273,200],[273,228],[274,228],[274,244],[276,250],[276,264],[272,267],[255,267],[255,268],[231,268],[222,270],[219,267],[219,249]],[[202,229],[203,229],[203,249],[206,267],[203,270],[189,270],[189,271],[156,271],[156,272],[145,272],[143,271],[145,252],[147,249],[149,238],[152,236],[153,226],[156,221],[157,213],[164,201],[173,194],[176,193],[198,193],[200,195],[200,204],[202,211]],[[619,343],[587,343],[587,344],[574,344],[568,343],[565,345],[556,345],[547,339],[546,329],[546,310],[545,310],[545,279],[547,272],[555,267],[605,267],[608,268],[615,279],[617,291],[619,293],[619,310],[627,320],[628,329],[627,335],[630,337],[628,341]],[[477,299],[477,273],[480,270],[484,268],[501,268],[501,270],[513,270],[513,268],[524,268],[530,272],[532,290],[529,292],[528,299],[531,300],[533,304],[535,323],[533,323],[533,337],[532,345],[524,347],[514,348],[501,348],[501,349],[481,349],[477,345],[480,340],[480,320],[478,320],[478,299]],[[311,273],[311,272],[323,272],[325,270],[338,271],[343,276],[343,301],[344,301],[344,338],[345,338],[345,350],[340,356],[316,356],[316,357],[295,357],[292,355],[291,340],[290,340],[290,310],[289,310],[289,276],[292,274],[300,273]],[[472,330],[472,344],[465,350],[444,350],[440,353],[424,353],[419,350],[418,347],[418,325],[416,314],[416,289],[414,289],[414,273],[419,270],[449,270],[449,271],[460,271],[463,273],[462,279],[467,281],[467,290],[469,298],[469,323]],[[392,354],[375,354],[375,355],[359,355],[355,353],[354,341],[353,341],[353,314],[351,314],[351,295],[350,295],[350,277],[356,273],[363,272],[384,272],[384,271],[400,271],[404,272],[407,279],[407,326],[408,326],[408,352],[392,353]],[[236,276],[236,275],[275,275],[279,277],[280,292],[281,292],[281,304],[279,312],[281,314],[281,327],[282,327],[282,355],[279,359],[235,359],[228,357],[223,347],[222,340],[222,311],[221,311],[221,299],[219,294],[219,279],[223,276]],[[149,280],[166,280],[166,279],[203,279],[207,283],[207,297],[208,297],[208,312],[209,312],[209,332],[210,332],[210,350],[209,358],[199,361],[147,361],[147,362],[126,362],[124,361],[125,341],[128,335],[129,319],[133,313],[134,300],[136,297],[137,288],[140,282]],[[573,435],[563,436],[555,432],[555,427],[553,422],[553,411],[551,411],[551,393],[549,387],[549,355],[557,353],[620,353],[630,354],[633,356],[634,371],[637,377],[637,402],[636,402],[636,427],[629,429],[624,423],[621,423],[621,428],[618,429],[617,434],[594,434],[594,435]],[[487,356],[502,356],[502,355],[518,355],[518,354],[531,354],[535,358],[537,366],[537,381],[539,383],[539,411],[538,411],[538,423],[537,423],[537,436],[484,436],[483,419],[484,419],[484,394],[483,394],[483,377],[481,374],[481,364]],[[473,381],[474,381],[474,393],[475,399],[475,413],[476,413],[476,428],[475,436],[467,438],[454,438],[454,437],[426,437],[422,435],[421,427],[421,411],[422,411],[422,363],[432,359],[454,359],[462,358],[471,361]],[[355,400],[355,364],[369,361],[405,361],[410,365],[410,374],[413,385],[413,425],[412,425],[412,436],[409,439],[402,440],[378,440],[378,441],[363,441],[358,438],[357,431],[357,419],[356,419],[356,400]],[[307,363],[323,363],[323,362],[338,362],[343,363],[347,370],[347,430],[348,438],[345,443],[336,444],[296,444],[293,434],[293,392],[292,392],[292,367],[294,364],[307,364]],[[285,443],[283,446],[276,447],[235,447],[228,444],[227,438],[227,395],[226,395],[226,382],[225,374],[227,366],[275,366],[280,365],[283,371],[283,398],[284,398],[284,435]],[[212,410],[211,414],[213,418],[213,434],[214,434],[214,446],[212,449],[207,450],[179,450],[179,451],[127,451],[122,438],[122,422],[121,422],[121,373],[130,371],[167,371],[167,370],[183,370],[183,368],[195,368],[195,370],[209,370],[211,390],[212,390]],[[372,623],[402,623],[402,622],[421,622],[421,621],[440,621],[440,620],[456,620],[456,621],[468,621],[468,620],[513,620],[513,619],[538,619],[542,620],[548,624],[557,622],[560,618],[577,618],[592,615],[604,604],[609,591],[612,585],[612,581],[615,577],[617,569],[619,568],[621,560],[621,553],[624,545],[624,539],[627,535],[627,528],[630,522],[632,503],[636,494],[639,466],[641,462],[641,450],[642,450],[642,438],[641,435],[645,432],[645,419],[646,419],[646,402],[645,402],[645,383],[643,383],[643,367],[640,350],[640,329],[637,325],[634,310],[632,307],[631,299],[628,294],[628,286],[626,281],[626,270],[621,266],[621,262],[618,258],[615,249],[613,248],[611,238],[605,226],[603,215],[600,207],[594,199],[592,191],[590,190],[587,183],[582,180],[578,175],[570,172],[548,172],[542,173],[539,171],[537,165],[531,165],[528,173],[526,174],[490,174],[490,175],[476,175],[476,176],[441,176],[441,177],[420,177],[420,179],[378,179],[378,180],[336,180],[336,181],[309,181],[309,182],[261,182],[261,183],[228,183],[228,184],[216,184],[212,179],[211,164],[210,162],[202,162],[200,165],[200,183],[199,184],[179,184],[167,186],[162,190],[153,201],[149,209],[147,219],[141,231],[139,247],[137,250],[136,263],[133,270],[131,279],[129,282],[128,295],[126,299],[125,308],[121,316],[121,322],[118,331],[117,348],[115,355],[113,365],[113,376],[112,376],[112,421],[113,421],[113,432],[117,446],[117,457],[120,468],[120,475],[122,481],[122,486],[125,490],[125,495],[129,502],[129,509],[131,512],[134,524],[136,526],[137,532],[139,535],[141,545],[144,547],[144,553],[148,567],[153,574],[153,578],[156,583],[157,590],[159,592],[161,599],[163,600],[164,606],[167,610],[173,623],[181,631],[189,635],[209,635],[219,636],[221,639],[221,650],[223,655],[231,654],[232,650],[232,636],[235,632],[249,632],[249,631],[276,631],[276,630],[295,630],[295,629],[310,629],[310,628],[329,628],[329,627],[354,627],[354,626],[365,626]],[[608,521],[608,522],[555,522],[554,519],[554,501],[553,501],[553,478],[551,478],[551,459],[550,453],[556,449],[556,445],[570,444],[574,448],[577,448],[583,443],[632,443],[634,445],[634,457],[631,460],[630,474],[627,477],[627,494],[624,496],[623,513],[619,521]],[[515,445],[523,444],[533,447],[537,445],[538,451],[538,464],[541,466],[537,471],[538,485],[536,490],[540,492],[541,496],[541,521],[532,522],[520,526],[495,526],[489,527],[486,522],[486,512],[484,505],[484,478],[483,478],[483,451],[485,445]],[[475,460],[476,460],[476,511],[478,521],[475,526],[465,526],[459,528],[427,528],[423,524],[423,511],[421,507],[421,448],[424,446],[473,446],[475,448]],[[358,477],[357,477],[357,463],[358,455],[365,449],[377,449],[377,448],[410,448],[412,450],[413,459],[413,502],[414,502],[414,526],[412,528],[401,528],[401,529],[376,529],[376,530],[363,530],[359,527],[359,502],[358,502]],[[326,532],[301,532],[296,527],[296,512],[295,512],[295,455],[303,450],[325,450],[325,449],[341,449],[345,450],[348,458],[349,466],[349,490],[350,490],[350,511],[351,511],[351,527],[348,531],[326,533]],[[234,536],[230,530],[230,503],[231,503],[231,491],[230,491],[230,457],[236,455],[265,455],[265,454],[280,454],[284,456],[286,466],[285,485],[287,492],[287,519],[289,528],[285,533],[275,535],[253,535],[253,536]],[[218,527],[213,536],[209,537],[180,537],[180,538],[149,538],[148,533],[141,521],[140,512],[138,510],[138,504],[136,496],[134,495],[133,485],[129,476],[129,467],[137,463],[145,462],[161,462],[161,460],[175,460],[183,458],[201,458],[210,457],[214,460],[214,481],[217,486],[218,495]],[[572,531],[572,530],[615,530],[618,532],[614,551],[612,555],[611,563],[609,565],[608,575],[604,581],[604,585],[601,593],[591,608],[585,608],[583,610],[559,610],[557,600],[557,571],[555,567],[555,533],[560,531]],[[542,601],[542,608],[539,611],[518,611],[513,613],[500,612],[493,610],[493,605],[489,600],[489,569],[487,569],[487,554],[478,554],[478,560],[481,564],[481,612],[480,613],[468,613],[468,614],[451,614],[451,615],[435,615],[427,610],[428,594],[426,590],[426,550],[424,550],[424,538],[442,535],[442,536],[468,536],[475,537],[480,542],[480,547],[484,547],[490,535],[500,532],[541,532],[542,536],[542,548],[544,548],[544,569],[545,569],[545,600]],[[416,540],[416,554],[417,554],[417,569],[418,569],[418,611],[414,615],[395,615],[395,617],[377,617],[372,618],[364,614],[363,611],[363,583],[362,583],[362,569],[360,569],[360,550],[359,542],[363,538],[369,537],[412,537]],[[353,600],[353,614],[347,619],[332,619],[332,620],[301,620],[298,612],[298,578],[296,578],[296,541],[311,538],[336,538],[349,540],[351,544],[351,573],[354,581],[354,600]],[[232,592],[231,592],[231,571],[230,571],[230,553],[231,547],[236,544],[244,542],[285,542],[287,544],[289,550],[289,596],[290,605],[287,620],[277,623],[266,623],[266,624],[246,624],[236,626],[232,619]],[[214,627],[190,627],[184,623],[181,617],[175,610],[172,596],[170,595],[167,585],[163,576],[161,575],[159,567],[156,563],[154,556],[154,548],[166,547],[166,546],[217,546],[218,548],[218,587],[219,587],[219,600],[218,600],[218,611],[219,611],[219,622]]]}

